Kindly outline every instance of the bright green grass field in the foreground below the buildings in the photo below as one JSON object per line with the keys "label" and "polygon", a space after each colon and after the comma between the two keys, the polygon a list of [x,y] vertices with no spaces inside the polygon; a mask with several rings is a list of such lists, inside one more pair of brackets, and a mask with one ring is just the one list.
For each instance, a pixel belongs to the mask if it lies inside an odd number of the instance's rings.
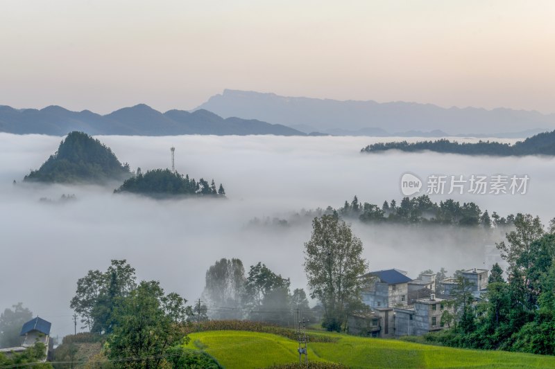
{"label": "bright green grass field in the foreground below the buildings", "polygon": [[[555,368],[555,357],[330,335],[338,341],[309,343],[309,361],[332,361],[350,368]],[[189,337],[188,348],[205,350],[228,369],[298,361],[296,341],[275,334],[212,331]]]}

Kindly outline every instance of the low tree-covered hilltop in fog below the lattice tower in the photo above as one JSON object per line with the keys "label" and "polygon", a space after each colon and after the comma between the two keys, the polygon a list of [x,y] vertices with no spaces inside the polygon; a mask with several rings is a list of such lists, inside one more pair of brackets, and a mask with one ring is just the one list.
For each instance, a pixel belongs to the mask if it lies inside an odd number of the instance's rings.
{"label": "low tree-covered hilltop in fog below the lattice tower", "polygon": [[138,168],[137,174],[123,182],[114,192],[131,192],[156,198],[176,195],[225,197],[223,186],[220,183],[219,188],[216,188],[214,179],[210,184],[202,178],[197,182],[189,178],[189,174],[184,177],[169,169],[148,170],[143,174],[141,168]]}

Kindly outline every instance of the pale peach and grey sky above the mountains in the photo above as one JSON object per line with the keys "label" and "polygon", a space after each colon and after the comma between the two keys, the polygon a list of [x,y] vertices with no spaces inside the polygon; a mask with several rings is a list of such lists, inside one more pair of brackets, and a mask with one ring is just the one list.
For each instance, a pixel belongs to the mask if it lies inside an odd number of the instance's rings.
{"label": "pale peach and grey sky above the mountains", "polygon": [[551,0],[3,0],[0,105],[193,109],[223,89],[554,113]]}

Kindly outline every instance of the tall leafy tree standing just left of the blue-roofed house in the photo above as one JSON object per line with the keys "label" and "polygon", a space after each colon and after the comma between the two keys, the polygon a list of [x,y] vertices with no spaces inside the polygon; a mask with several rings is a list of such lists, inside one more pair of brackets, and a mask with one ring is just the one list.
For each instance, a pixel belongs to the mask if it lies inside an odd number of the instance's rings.
{"label": "tall leafy tree standing just left of the blue-roofed house", "polygon": [[305,242],[305,272],[311,297],[324,308],[323,326],[341,330],[350,300],[360,300],[368,263],[362,258],[361,240],[345,222],[331,215],[314,218],[312,234]]}

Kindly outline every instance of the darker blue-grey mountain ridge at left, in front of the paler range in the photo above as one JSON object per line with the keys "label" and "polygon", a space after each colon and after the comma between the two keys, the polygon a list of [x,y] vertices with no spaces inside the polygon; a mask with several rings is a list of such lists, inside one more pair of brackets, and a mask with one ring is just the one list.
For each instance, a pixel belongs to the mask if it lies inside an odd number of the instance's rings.
{"label": "darker blue-grey mountain ridge at left, in front of the paler range", "polygon": [[63,107],[14,109],[0,105],[0,132],[14,134],[51,134],[63,136],[70,131],[87,134],[121,134],[138,136],[172,136],[177,134],[247,135],[305,134],[280,124],[241,118],[221,118],[210,111],[170,110],[161,113],[148,105],[119,109],[101,116],[92,111],[69,111]]}

